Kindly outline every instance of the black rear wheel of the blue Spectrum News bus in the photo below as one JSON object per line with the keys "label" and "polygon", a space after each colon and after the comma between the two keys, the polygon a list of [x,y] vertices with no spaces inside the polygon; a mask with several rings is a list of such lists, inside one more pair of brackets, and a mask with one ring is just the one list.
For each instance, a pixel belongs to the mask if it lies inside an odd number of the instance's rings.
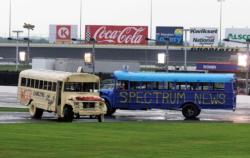
{"label": "black rear wheel of the blue Spectrum News bus", "polygon": [[195,104],[185,104],[182,107],[182,114],[187,119],[194,119],[200,114],[200,109]]}

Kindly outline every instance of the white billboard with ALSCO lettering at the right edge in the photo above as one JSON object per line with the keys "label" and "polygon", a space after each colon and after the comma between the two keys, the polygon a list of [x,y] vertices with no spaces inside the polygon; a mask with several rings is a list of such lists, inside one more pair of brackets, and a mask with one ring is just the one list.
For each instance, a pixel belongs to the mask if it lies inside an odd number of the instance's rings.
{"label": "white billboard with ALSCO lettering at the right edge", "polygon": [[[250,29],[249,28],[226,28],[225,38],[233,41],[246,42],[250,39]],[[227,46],[238,46],[244,47],[245,44],[226,42]]]}

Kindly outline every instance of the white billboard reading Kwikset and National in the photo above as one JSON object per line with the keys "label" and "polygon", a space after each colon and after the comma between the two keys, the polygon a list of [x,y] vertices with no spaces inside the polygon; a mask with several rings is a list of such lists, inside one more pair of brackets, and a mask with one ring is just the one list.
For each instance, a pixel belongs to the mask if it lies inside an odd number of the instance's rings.
{"label": "white billboard reading Kwikset and National", "polygon": [[218,44],[217,28],[190,28],[191,46],[215,46]]}

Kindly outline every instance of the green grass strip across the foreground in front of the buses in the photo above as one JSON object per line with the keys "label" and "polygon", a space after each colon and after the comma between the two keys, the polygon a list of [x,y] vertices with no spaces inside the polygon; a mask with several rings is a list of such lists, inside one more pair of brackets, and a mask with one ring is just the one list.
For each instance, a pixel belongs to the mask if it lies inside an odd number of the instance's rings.
{"label": "green grass strip across the foreground in front of the buses", "polygon": [[248,124],[51,122],[0,128],[0,158],[250,157]]}

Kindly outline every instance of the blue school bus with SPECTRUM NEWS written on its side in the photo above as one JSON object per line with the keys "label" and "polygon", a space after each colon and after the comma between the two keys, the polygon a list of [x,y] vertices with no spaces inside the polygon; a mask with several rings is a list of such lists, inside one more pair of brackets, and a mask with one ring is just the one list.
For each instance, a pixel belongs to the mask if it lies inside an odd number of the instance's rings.
{"label": "blue school bus with SPECTRUM NEWS written on its side", "polygon": [[169,109],[191,119],[202,109],[236,108],[234,74],[115,71],[113,79],[100,91],[108,115],[116,109]]}

